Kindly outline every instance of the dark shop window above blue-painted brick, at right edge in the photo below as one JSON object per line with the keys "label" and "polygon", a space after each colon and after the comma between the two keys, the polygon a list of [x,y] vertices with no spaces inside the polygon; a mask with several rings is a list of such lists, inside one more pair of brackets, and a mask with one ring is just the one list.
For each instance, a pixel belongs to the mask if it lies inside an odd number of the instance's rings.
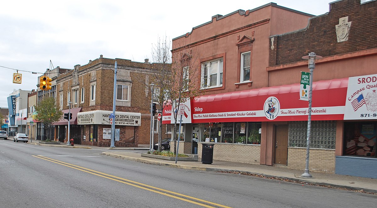
{"label": "dark shop window above blue-painted brick, at right edge", "polygon": [[345,122],[343,154],[376,157],[376,122]]}

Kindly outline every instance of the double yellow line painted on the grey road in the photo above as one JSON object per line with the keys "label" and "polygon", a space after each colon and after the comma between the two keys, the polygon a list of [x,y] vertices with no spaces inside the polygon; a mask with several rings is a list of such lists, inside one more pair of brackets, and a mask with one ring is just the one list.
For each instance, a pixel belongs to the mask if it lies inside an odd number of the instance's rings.
{"label": "double yellow line painted on the grey road", "polygon": [[39,159],[43,159],[43,160],[47,160],[49,162],[57,163],[59,165],[67,166],[69,168],[74,168],[74,169],[77,169],[79,171],[83,171],[85,173],[90,173],[90,174],[93,174],[93,175],[96,175],[96,176],[100,176],[100,177],[103,177],[103,178],[106,178],[106,179],[114,180],[116,182],[124,183],[124,184],[127,184],[127,185],[135,186],[137,188],[141,188],[141,189],[144,189],[144,190],[147,190],[147,191],[152,191],[154,193],[162,194],[164,196],[172,197],[174,199],[179,199],[179,200],[189,202],[189,203],[193,203],[193,204],[196,204],[196,205],[200,205],[200,206],[204,206],[204,207],[230,208],[229,206],[224,206],[224,205],[221,205],[221,204],[218,204],[218,203],[213,203],[213,202],[198,199],[198,198],[195,198],[195,197],[187,196],[187,195],[184,195],[184,194],[176,193],[176,192],[173,192],[173,191],[168,191],[168,190],[165,190],[165,189],[162,189],[162,188],[149,186],[149,185],[146,185],[144,183],[139,183],[139,182],[136,182],[136,181],[124,179],[124,178],[113,176],[113,175],[110,175],[110,174],[101,173],[101,172],[98,172],[98,171],[95,171],[95,170],[92,170],[92,169],[84,168],[84,167],[81,167],[81,166],[78,166],[78,165],[73,165],[73,164],[66,163],[66,162],[61,162],[59,160],[54,160],[54,159],[51,159],[51,158],[48,158],[48,157],[44,157],[44,156],[40,156],[40,155],[38,155],[38,156],[33,155],[33,157],[37,157]]}

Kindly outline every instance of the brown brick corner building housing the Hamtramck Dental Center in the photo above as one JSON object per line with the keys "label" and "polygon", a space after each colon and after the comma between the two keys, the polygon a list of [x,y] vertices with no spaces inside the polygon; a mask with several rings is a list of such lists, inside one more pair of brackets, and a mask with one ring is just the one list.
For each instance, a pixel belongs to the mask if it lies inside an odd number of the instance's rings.
{"label": "brown brick corner building housing the Hamtramck Dental Center", "polygon": [[[70,138],[75,143],[110,146],[112,119],[109,116],[113,109],[115,61],[115,146],[149,144],[151,92],[148,74],[153,72],[155,64],[147,59],[140,63],[107,59],[102,55],[86,65],[76,65],[57,79],[57,105],[64,113],[72,113]],[[68,102],[72,102],[70,109]],[[65,119],[55,123],[56,140],[67,142],[67,125]],[[157,138],[158,128],[155,129]]]}

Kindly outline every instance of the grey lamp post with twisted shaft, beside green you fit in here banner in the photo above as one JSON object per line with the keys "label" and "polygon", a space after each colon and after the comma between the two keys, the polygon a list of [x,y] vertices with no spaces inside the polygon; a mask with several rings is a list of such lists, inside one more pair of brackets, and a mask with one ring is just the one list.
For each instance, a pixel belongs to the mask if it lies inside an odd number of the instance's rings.
{"label": "grey lamp post with twisted shaft, beside green you fit in here banner", "polygon": [[314,52],[305,55],[302,59],[309,60],[308,68],[310,69],[309,76],[309,107],[308,107],[308,132],[307,132],[307,155],[306,155],[306,164],[305,172],[301,175],[303,178],[312,178],[313,176],[309,173],[309,147],[310,147],[310,126],[311,126],[311,94],[313,89],[313,71],[316,68],[316,59],[322,59],[322,56],[316,55]]}

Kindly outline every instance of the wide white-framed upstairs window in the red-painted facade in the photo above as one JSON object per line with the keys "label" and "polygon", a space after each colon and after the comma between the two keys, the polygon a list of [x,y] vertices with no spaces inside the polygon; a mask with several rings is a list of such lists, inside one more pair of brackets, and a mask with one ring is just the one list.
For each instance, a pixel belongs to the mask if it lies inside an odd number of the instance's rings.
{"label": "wide white-framed upstairs window in the red-painted facade", "polygon": [[201,88],[222,86],[223,62],[221,58],[202,63]]}

